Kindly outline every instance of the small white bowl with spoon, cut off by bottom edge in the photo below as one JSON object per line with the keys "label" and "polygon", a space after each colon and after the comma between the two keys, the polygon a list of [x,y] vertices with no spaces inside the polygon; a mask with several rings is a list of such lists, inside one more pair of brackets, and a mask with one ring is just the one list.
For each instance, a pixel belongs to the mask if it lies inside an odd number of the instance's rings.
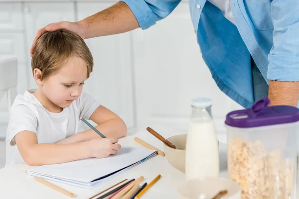
{"label": "small white bowl with spoon, cut off by bottom edge", "polygon": [[204,177],[186,181],[177,190],[177,199],[212,199],[220,191],[227,194],[221,199],[240,199],[241,187],[238,183],[224,178]]}

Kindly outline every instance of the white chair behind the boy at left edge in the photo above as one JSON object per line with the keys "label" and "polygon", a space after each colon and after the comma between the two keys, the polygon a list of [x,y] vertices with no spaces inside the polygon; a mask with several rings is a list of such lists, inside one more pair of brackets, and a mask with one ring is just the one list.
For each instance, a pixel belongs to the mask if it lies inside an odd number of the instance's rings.
{"label": "white chair behind the boy at left edge", "polygon": [[[7,58],[0,60],[0,100],[6,94],[8,116],[11,105],[17,95],[17,58]],[[1,132],[2,133],[2,132]],[[5,165],[5,142],[0,138],[0,168]]]}

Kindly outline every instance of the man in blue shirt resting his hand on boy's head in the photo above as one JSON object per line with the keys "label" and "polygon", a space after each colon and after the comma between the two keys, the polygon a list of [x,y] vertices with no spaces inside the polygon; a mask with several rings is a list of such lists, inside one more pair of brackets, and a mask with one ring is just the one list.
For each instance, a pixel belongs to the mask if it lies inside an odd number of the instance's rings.
{"label": "man in blue shirt resting his hand on boy's head", "polygon": [[[121,0],[81,21],[41,28],[33,46],[43,32],[60,28],[83,39],[147,29],[180,1]],[[202,57],[226,95],[246,108],[267,96],[271,105],[298,105],[298,0],[189,0],[189,5]]]}

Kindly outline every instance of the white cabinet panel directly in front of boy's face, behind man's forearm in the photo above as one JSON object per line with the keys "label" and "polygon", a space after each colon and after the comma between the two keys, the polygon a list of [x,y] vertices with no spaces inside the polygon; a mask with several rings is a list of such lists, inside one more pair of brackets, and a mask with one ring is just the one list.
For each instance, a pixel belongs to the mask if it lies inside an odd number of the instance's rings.
{"label": "white cabinet panel directly in front of boy's face, behind man's forearm", "polygon": [[[78,20],[113,3],[78,2]],[[122,117],[128,128],[135,125],[131,34],[85,40],[94,57],[94,68],[91,77],[84,85],[84,90]]]}

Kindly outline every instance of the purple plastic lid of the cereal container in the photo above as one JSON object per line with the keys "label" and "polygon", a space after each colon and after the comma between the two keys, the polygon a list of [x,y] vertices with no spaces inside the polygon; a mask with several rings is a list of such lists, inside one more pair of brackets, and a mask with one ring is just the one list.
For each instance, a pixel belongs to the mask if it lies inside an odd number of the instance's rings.
{"label": "purple plastic lid of the cereal container", "polygon": [[236,110],[226,115],[225,124],[239,128],[269,126],[299,121],[299,109],[294,106],[268,106],[270,100],[262,98],[251,108]]}

